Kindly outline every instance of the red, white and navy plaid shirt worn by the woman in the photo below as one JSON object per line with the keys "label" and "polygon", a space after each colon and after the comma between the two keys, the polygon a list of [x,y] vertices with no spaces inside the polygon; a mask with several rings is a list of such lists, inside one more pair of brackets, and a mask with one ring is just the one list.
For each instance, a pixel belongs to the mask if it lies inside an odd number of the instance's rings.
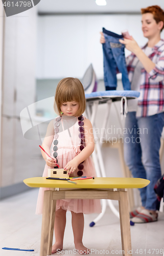
{"label": "red, white and navy plaid shirt worn by the woman", "polygon": [[[142,49],[145,49],[145,45]],[[148,56],[154,63],[155,68],[147,73],[143,68],[140,79],[140,96],[136,116],[146,117],[164,111],[164,40],[160,40]],[[138,58],[132,53],[126,58],[129,81],[134,75],[134,69]]]}

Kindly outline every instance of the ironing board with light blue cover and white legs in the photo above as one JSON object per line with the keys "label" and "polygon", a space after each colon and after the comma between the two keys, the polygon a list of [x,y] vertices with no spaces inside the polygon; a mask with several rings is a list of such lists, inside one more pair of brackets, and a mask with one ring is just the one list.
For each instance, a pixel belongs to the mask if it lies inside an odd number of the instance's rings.
{"label": "ironing board with light blue cover and white legs", "polygon": [[[127,99],[134,99],[139,97],[139,92],[137,91],[102,91],[102,92],[92,92],[90,94],[85,94],[86,98],[86,117],[91,121],[93,126],[93,136],[96,137],[95,129],[96,124],[95,120],[97,118],[97,110],[99,104],[107,103],[107,109],[104,113],[104,121],[102,123],[102,137],[104,137],[104,131],[107,128],[111,103],[113,101],[121,101],[121,114],[125,115],[128,112],[127,109]],[[95,163],[95,169],[97,173],[97,177],[106,177],[106,171],[104,167],[101,147],[102,147],[102,140],[99,140],[95,143],[96,150],[92,153],[93,161]],[[106,210],[106,203],[108,202],[110,209],[113,213],[120,218],[118,210],[115,209],[111,200],[102,200],[102,213],[90,223],[90,227],[95,225],[104,215]]]}

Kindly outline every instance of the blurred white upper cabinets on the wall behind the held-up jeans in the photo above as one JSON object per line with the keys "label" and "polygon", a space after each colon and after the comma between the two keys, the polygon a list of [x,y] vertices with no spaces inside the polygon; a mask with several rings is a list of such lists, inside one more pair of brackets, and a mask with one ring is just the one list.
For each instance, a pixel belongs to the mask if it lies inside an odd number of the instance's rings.
{"label": "blurred white upper cabinets on the wall behind the held-up jeans", "polygon": [[38,16],[37,78],[81,78],[90,63],[103,78],[102,27],[118,34],[128,29],[143,46],[140,20],[140,15]]}

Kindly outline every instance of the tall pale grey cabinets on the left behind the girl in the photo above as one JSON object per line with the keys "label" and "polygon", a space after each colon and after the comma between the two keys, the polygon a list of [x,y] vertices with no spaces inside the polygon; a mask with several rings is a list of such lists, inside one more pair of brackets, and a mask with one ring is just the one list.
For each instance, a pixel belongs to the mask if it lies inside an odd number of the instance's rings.
{"label": "tall pale grey cabinets on the left behind the girl", "polygon": [[45,164],[38,146],[41,141],[25,139],[20,125],[20,112],[35,102],[34,9],[23,18],[7,18],[4,24],[1,186],[41,176]]}

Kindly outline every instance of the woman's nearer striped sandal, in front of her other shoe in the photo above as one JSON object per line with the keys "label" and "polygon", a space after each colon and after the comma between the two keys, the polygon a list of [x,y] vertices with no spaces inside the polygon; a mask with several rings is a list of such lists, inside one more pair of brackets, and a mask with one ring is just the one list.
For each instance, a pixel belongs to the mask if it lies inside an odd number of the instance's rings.
{"label": "woman's nearer striped sandal, in front of her other shoe", "polygon": [[153,222],[158,220],[158,214],[152,214],[147,209],[143,209],[139,212],[137,216],[131,219],[134,223],[147,223],[147,222]]}

